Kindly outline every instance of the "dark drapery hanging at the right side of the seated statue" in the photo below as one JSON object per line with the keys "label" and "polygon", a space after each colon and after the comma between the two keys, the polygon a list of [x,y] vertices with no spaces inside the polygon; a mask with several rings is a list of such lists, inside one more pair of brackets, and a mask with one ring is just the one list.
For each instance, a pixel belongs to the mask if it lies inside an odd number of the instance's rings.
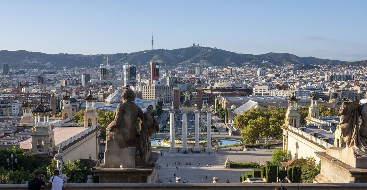
{"label": "dark drapery hanging at the right side of the seated statue", "polygon": [[140,134],[138,139],[138,151],[141,153],[140,158],[145,163],[148,161],[147,152],[150,150],[150,137],[159,131],[159,125],[155,118],[152,117],[151,111],[143,114],[140,120]]}

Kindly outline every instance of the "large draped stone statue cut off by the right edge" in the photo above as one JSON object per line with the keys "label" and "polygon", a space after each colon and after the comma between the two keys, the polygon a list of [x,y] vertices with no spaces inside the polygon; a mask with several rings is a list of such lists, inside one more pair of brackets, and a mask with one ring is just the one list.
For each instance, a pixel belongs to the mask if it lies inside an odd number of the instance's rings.
{"label": "large draped stone statue cut off by the right edge", "polygon": [[[367,151],[367,104],[359,105],[358,100],[344,101],[338,116],[341,119],[340,129],[346,145]],[[362,119],[360,125],[359,116]]]}

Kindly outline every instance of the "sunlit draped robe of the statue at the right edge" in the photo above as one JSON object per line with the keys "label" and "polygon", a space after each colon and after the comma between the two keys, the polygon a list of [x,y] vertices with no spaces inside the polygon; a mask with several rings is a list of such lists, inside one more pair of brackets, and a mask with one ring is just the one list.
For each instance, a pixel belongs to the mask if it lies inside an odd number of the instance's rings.
{"label": "sunlit draped robe of the statue at the right edge", "polygon": [[343,102],[340,106],[341,111],[338,116],[342,119],[340,129],[343,139],[348,147],[363,146],[359,131],[359,101]]}

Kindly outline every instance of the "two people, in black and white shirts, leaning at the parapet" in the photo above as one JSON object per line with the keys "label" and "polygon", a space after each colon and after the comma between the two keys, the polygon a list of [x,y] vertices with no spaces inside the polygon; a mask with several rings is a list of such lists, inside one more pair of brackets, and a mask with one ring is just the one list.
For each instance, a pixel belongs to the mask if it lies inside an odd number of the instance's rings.
{"label": "two people, in black and white shirts, leaning at the parapet", "polygon": [[[64,180],[59,175],[60,172],[55,170],[54,175],[48,180],[48,187],[51,187],[51,190],[62,190],[66,187]],[[33,179],[28,181],[28,190],[40,190],[41,186],[47,187],[47,184],[43,177],[41,178],[41,172],[36,171],[33,174]]]}

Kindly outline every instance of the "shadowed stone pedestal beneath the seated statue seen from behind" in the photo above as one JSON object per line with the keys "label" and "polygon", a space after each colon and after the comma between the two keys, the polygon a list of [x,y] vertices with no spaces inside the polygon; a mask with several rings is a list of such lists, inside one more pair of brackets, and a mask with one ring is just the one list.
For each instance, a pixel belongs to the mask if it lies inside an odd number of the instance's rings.
{"label": "shadowed stone pedestal beneath the seated statue seen from behind", "polygon": [[154,161],[158,160],[159,151],[152,151],[146,167],[107,167],[104,164],[92,170],[99,176],[99,183],[159,183],[159,176],[155,172]]}

